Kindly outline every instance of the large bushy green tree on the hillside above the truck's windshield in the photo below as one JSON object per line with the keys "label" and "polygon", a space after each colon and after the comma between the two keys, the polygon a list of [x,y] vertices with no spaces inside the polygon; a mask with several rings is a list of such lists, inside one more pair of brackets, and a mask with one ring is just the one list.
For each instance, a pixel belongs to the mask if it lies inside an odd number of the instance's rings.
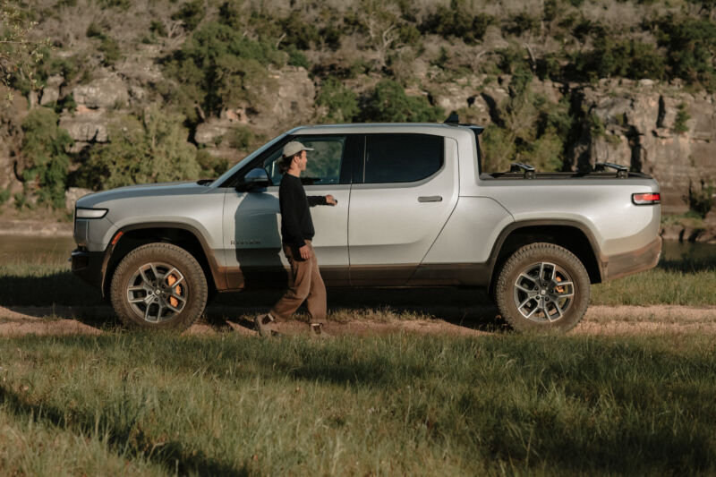
{"label": "large bushy green tree on the hillside above the truck's windshield", "polygon": [[218,114],[224,107],[268,101],[277,85],[266,67],[280,66],[283,61],[275,45],[246,38],[225,22],[210,21],[166,60],[166,76],[177,81],[178,87],[166,86],[162,92],[195,122],[196,106],[207,114]]}

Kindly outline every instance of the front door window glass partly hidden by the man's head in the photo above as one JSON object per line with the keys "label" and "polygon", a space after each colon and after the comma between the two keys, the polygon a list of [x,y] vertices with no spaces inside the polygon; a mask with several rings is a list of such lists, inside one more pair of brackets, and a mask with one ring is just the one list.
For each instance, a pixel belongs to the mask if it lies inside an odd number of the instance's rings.
{"label": "front door window glass partly hidden by the man's head", "polygon": [[[341,165],[344,160],[345,136],[304,137],[298,136],[293,141],[301,142],[308,151],[308,164],[303,171],[302,180],[306,184],[339,183]],[[269,154],[263,161],[271,183],[281,182],[281,152],[283,148]]]}

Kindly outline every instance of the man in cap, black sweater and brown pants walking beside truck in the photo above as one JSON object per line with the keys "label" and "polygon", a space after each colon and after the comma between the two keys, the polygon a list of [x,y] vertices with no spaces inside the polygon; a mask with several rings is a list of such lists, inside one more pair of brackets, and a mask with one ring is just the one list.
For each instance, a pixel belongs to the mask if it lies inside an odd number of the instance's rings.
{"label": "man in cap, black sweater and brown pants walking beside truck", "polygon": [[281,242],[286,259],[291,264],[291,275],[284,296],[268,314],[254,320],[261,336],[276,334],[276,319],[288,319],[304,301],[310,316],[311,336],[328,336],[323,329],[326,319],[326,286],[320,277],[319,264],[311,245],[315,230],[309,206],[333,206],[337,200],[332,195],[306,197],[301,173],[306,170],[308,150],[313,149],[306,148],[298,141],[291,141],[284,146],[281,158],[284,176],[278,188],[278,202],[281,207]]}

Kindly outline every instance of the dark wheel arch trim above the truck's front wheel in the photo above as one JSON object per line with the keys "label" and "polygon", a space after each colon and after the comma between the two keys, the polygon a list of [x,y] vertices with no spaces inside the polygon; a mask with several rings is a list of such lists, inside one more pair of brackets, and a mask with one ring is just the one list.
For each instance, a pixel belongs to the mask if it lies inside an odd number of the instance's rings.
{"label": "dark wheel arch trim above the truck's front wheel", "polygon": [[226,278],[213,251],[195,228],[185,224],[152,223],[124,226],[115,232],[102,265],[102,295],[108,296],[115,269],[127,253],[141,245],[157,242],[172,243],[191,253],[204,271],[209,289],[217,291],[226,288]]}

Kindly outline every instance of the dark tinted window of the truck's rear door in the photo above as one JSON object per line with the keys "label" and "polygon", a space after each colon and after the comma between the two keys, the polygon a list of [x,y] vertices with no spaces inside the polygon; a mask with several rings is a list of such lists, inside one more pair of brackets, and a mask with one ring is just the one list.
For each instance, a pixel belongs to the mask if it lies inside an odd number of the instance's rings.
{"label": "dark tinted window of the truck's rear door", "polygon": [[366,138],[365,183],[412,183],[443,163],[443,138],[426,134],[374,134]]}

